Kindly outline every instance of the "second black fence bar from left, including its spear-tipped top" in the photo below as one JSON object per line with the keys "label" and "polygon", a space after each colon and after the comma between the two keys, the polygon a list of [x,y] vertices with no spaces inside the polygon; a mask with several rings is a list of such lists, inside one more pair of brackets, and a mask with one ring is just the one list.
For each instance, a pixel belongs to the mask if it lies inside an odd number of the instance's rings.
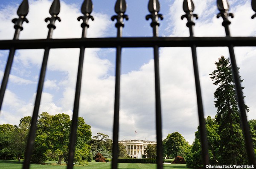
{"label": "second black fence bar from left, including its spear-tipped top", "polygon": [[[51,14],[52,17],[51,18],[47,17],[45,19],[45,22],[49,21],[49,24],[47,25],[47,27],[49,28],[47,39],[52,39],[52,32],[56,28],[55,21],[56,20],[58,20],[59,22],[61,21],[61,19],[58,17],[59,12],[60,12],[60,1],[54,0],[49,10],[49,14]],[[34,106],[34,111],[32,115],[30,130],[29,130],[29,137],[28,137],[28,142],[26,146],[23,169],[29,169],[30,158],[31,158],[32,150],[35,143],[35,131],[36,131],[36,125],[37,125],[38,111],[39,111],[41,96],[43,92],[44,78],[46,74],[49,50],[50,50],[49,47],[46,47],[44,49],[44,57],[43,57],[40,77],[38,81],[38,89],[35,97],[35,106]]]}

